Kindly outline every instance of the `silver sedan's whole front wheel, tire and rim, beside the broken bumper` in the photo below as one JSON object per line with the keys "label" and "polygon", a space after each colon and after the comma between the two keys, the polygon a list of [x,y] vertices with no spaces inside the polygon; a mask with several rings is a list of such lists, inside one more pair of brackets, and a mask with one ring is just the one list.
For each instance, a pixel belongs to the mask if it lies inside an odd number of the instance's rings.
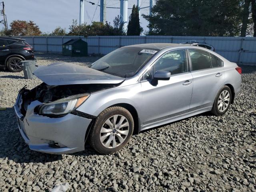
{"label": "silver sedan's whole front wheel, tire and rim, beside the broken bumper", "polygon": [[133,130],[134,120],[128,110],[119,106],[107,108],[95,120],[90,145],[101,154],[114,153],[128,143]]}

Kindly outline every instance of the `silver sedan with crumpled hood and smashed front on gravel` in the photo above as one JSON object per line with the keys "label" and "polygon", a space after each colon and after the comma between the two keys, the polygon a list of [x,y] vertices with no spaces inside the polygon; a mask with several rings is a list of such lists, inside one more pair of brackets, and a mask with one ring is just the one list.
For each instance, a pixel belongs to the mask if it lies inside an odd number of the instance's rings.
{"label": "silver sedan with crumpled hood and smashed front on gravel", "polygon": [[206,48],[181,44],[125,46],[90,67],[39,66],[43,83],[22,88],[18,129],[31,150],[101,154],[132,134],[196,114],[224,114],[240,90],[242,69]]}

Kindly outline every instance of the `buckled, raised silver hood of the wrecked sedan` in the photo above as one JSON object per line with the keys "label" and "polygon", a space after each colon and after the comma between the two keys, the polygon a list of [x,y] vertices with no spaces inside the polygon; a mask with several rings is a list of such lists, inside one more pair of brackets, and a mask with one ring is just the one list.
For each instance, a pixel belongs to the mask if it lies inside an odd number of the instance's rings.
{"label": "buckled, raised silver hood of the wrecked sedan", "polygon": [[34,75],[48,85],[118,84],[125,78],[67,62],[38,66]]}

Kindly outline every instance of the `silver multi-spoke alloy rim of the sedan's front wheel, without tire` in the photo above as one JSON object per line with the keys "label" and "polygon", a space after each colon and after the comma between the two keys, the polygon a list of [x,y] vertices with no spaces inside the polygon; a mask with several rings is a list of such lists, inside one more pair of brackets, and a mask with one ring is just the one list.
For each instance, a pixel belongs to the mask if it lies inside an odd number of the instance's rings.
{"label": "silver multi-spoke alloy rim of the sedan's front wheel, without tire", "polygon": [[128,136],[129,122],[123,115],[108,118],[100,130],[100,142],[106,148],[120,146]]}

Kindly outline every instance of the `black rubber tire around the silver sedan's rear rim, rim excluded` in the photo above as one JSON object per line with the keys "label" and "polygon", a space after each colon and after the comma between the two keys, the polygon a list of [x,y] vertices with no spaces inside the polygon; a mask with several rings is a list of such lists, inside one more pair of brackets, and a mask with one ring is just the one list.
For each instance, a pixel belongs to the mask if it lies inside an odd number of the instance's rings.
{"label": "black rubber tire around the silver sedan's rear rim, rim excluded", "polygon": [[[228,105],[226,106],[226,109],[223,110],[223,111],[220,111],[220,109],[218,108],[218,100],[219,100],[219,97],[220,97],[220,94],[224,91],[228,91],[229,93],[229,102],[228,102]],[[213,106],[212,106],[212,113],[216,116],[220,116],[220,115],[223,115],[224,113],[227,112],[229,106],[230,106],[230,103],[231,103],[231,99],[232,99],[232,92],[230,90],[230,88],[228,86],[223,86],[223,88],[218,92],[215,100],[214,100],[214,103],[213,103]]]}

